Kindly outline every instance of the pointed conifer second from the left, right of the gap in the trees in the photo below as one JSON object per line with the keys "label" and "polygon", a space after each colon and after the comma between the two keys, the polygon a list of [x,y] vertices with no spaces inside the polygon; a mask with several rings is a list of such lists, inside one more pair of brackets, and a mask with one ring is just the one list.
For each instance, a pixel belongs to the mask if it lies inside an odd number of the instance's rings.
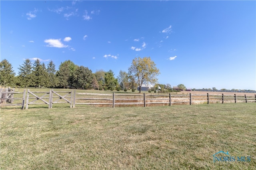
{"label": "pointed conifer second from the left, right of the gap in the trees", "polygon": [[28,87],[32,84],[32,62],[30,59],[26,59],[22,65],[18,68],[18,85]]}

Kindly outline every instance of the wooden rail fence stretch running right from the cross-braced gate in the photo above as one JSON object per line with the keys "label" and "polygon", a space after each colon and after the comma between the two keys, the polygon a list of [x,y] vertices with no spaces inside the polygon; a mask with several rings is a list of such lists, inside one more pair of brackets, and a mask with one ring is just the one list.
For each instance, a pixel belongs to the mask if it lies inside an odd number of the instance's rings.
{"label": "wooden rail fence stretch running right from the cross-braced gate", "polygon": [[[79,96],[79,97],[77,97]],[[97,97],[94,97],[97,96]],[[210,103],[238,103],[238,102],[256,102],[256,95],[254,96],[237,96],[234,95],[151,95],[151,94],[96,94],[96,93],[76,93],[74,91],[73,107],[75,105],[109,105],[128,106],[128,105],[178,105],[178,104],[210,104]]]}

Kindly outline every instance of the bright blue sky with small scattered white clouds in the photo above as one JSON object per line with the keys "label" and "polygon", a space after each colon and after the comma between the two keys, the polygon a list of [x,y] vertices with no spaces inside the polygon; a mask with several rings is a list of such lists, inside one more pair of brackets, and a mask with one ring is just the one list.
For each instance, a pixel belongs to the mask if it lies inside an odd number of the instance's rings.
{"label": "bright blue sky with small scattered white clouds", "polygon": [[128,71],[151,57],[158,81],[256,90],[256,1],[0,1],[1,60]]}

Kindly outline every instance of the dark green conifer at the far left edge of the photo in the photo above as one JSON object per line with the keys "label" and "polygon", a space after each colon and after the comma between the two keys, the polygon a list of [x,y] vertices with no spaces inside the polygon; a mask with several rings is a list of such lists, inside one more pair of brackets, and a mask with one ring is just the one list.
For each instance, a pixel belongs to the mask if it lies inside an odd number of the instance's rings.
{"label": "dark green conifer at the far left edge of the photo", "polygon": [[12,64],[7,59],[3,59],[0,62],[0,85],[15,85],[14,79],[15,73]]}

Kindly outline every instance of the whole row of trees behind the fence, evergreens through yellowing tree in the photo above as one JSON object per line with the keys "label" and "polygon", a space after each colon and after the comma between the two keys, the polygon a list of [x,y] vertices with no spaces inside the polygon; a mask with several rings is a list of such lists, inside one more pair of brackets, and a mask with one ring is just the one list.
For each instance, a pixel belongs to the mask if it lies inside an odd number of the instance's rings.
{"label": "whole row of trees behind the fence, evergreens through yellowing tree", "polygon": [[70,60],[60,63],[58,70],[53,61],[47,65],[36,59],[34,63],[25,59],[19,65],[16,76],[12,64],[6,59],[0,62],[0,85],[18,87],[47,87],[66,89],[98,89],[98,90],[132,90],[144,83],[157,83],[159,69],[150,57],[135,58],[129,71],[120,70],[114,77],[114,72],[97,70],[92,73],[88,67],[78,66]]}

